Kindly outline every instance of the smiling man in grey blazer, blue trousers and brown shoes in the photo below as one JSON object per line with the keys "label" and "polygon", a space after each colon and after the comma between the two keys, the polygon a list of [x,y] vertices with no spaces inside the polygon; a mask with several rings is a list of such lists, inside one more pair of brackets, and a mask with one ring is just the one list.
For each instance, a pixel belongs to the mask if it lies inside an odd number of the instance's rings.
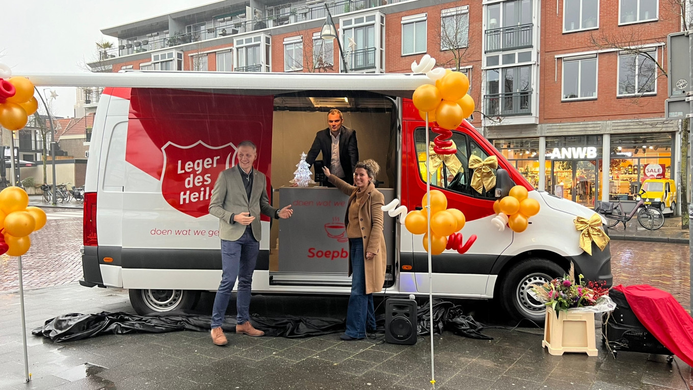
{"label": "smiling man in grey blazer, blue trousers and brown shoes", "polygon": [[260,214],[286,219],[293,213],[291,205],[281,210],[270,205],[266,191],[267,179],[263,173],[253,169],[253,162],[257,158],[255,144],[241,142],[236,155],[238,165],[219,174],[209,201],[209,214],[219,219],[221,239],[222,278],[214,298],[211,321],[212,341],[218,346],[227,344],[221,325],[236,278],[236,333],[249,336],[265,334],[253,328],[249,321],[250,287],[260,251]]}

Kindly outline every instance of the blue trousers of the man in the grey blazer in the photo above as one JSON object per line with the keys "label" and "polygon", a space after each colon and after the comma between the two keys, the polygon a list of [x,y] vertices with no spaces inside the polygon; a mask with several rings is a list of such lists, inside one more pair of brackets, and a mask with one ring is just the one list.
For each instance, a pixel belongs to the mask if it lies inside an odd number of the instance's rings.
{"label": "blue trousers of the man in the grey blazer", "polygon": [[238,278],[236,297],[236,323],[238,325],[250,320],[250,287],[253,282],[255,261],[260,252],[260,243],[253,237],[248,227],[236,241],[221,240],[221,283],[214,298],[212,310],[212,328],[218,328],[224,322],[224,315],[229,306],[231,291]]}

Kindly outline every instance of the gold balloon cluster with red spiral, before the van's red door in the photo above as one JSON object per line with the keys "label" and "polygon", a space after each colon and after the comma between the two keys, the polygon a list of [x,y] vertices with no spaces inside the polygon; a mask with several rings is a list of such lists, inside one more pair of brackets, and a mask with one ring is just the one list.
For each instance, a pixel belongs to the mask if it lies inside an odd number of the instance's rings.
{"label": "gold balloon cluster with red spiral, before the van's red door", "polygon": [[[464,214],[457,209],[448,209],[448,198],[443,192],[434,189],[430,192],[431,203],[431,248],[428,248],[428,215],[426,210],[413,210],[407,214],[404,225],[414,235],[423,235],[423,248],[431,255],[440,255],[447,249],[455,249],[459,253],[465,253],[476,240],[472,235],[467,243],[462,245],[462,235],[459,232],[464,228],[466,219]],[[424,195],[421,201],[423,207],[428,205],[428,196]],[[448,237],[449,236],[449,237]]]}

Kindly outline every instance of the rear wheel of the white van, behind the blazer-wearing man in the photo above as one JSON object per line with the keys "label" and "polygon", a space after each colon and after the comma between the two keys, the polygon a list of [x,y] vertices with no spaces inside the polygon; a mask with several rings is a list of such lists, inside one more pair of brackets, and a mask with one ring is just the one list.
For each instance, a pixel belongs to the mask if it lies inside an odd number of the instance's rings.
{"label": "rear wheel of the white van, behind the blazer-wearing man", "polygon": [[174,310],[190,310],[198,303],[198,299],[200,299],[200,291],[130,289],[132,308],[141,316]]}

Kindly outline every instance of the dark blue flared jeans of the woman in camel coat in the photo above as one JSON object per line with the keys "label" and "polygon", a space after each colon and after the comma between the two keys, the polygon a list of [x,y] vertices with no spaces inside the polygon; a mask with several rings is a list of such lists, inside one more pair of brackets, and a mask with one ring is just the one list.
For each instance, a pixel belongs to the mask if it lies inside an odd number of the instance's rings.
{"label": "dark blue flared jeans of the woman in camel coat", "polygon": [[373,307],[373,294],[366,294],[366,273],[363,259],[363,239],[351,241],[351,296],[347,309],[347,331],[349,337],[366,337],[369,330],[376,329],[376,315]]}

